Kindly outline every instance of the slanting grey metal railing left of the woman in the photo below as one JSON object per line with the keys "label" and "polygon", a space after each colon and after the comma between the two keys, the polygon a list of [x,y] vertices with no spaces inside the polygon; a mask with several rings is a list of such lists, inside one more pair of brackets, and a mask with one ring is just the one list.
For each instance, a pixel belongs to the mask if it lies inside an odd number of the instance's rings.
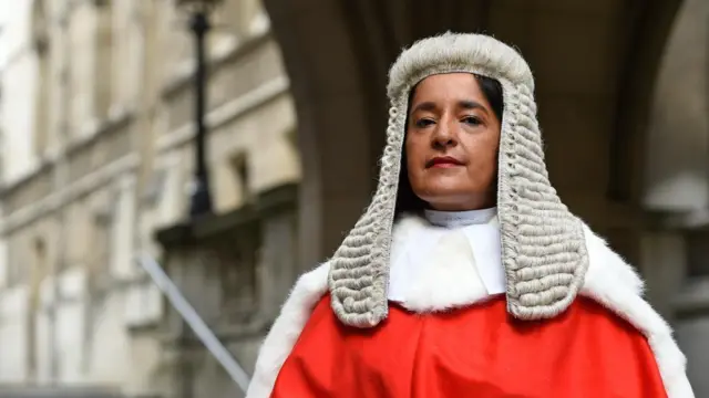
{"label": "slanting grey metal railing left of the woman", "polygon": [[192,331],[197,335],[204,346],[219,362],[226,373],[232,377],[234,383],[246,394],[249,377],[244,368],[236,362],[228,349],[219,342],[217,336],[212,332],[209,326],[202,320],[199,314],[189,304],[187,298],[182,294],[179,289],[173,283],[165,273],[157,260],[151,255],[141,254],[135,261],[151,275],[153,282],[165,294],[173,307],[179,313],[183,320],[189,325]]}

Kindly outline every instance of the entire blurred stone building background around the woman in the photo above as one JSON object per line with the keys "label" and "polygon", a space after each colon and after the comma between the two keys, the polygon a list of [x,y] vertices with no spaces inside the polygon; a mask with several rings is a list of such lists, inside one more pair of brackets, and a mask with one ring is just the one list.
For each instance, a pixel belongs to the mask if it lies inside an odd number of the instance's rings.
{"label": "entire blurred stone building background around the woman", "polygon": [[530,62],[553,184],[709,397],[708,25],[707,0],[0,1],[0,397],[243,396],[376,187],[389,65],[446,30]]}

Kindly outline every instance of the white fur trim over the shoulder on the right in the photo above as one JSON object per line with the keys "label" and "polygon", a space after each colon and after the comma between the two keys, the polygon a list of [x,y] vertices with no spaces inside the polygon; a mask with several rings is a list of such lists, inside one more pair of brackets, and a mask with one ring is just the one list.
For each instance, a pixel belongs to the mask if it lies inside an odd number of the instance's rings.
{"label": "white fur trim over the shoulder on the right", "polygon": [[590,265],[580,294],[613,311],[647,337],[668,398],[693,398],[685,355],[672,338],[669,325],[643,300],[640,277],[588,227],[584,233]]}

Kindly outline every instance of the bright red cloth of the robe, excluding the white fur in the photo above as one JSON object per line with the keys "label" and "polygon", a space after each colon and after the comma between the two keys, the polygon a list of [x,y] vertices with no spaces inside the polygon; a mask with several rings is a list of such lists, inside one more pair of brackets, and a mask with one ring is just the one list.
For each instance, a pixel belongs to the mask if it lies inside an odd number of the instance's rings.
{"label": "bright red cloth of the robe, excluding the white fur", "polygon": [[553,320],[513,320],[504,296],[443,313],[391,303],[373,329],[342,325],[326,295],[273,398],[667,397],[647,339],[586,297]]}

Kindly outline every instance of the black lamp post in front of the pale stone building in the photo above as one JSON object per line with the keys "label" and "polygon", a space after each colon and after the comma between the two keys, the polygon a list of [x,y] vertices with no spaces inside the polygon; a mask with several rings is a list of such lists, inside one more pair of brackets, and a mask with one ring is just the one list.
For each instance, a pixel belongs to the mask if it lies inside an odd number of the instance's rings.
{"label": "black lamp post in front of the pale stone building", "polygon": [[209,189],[209,174],[207,171],[206,159],[206,133],[204,123],[206,88],[207,88],[207,64],[205,55],[205,36],[209,31],[209,12],[222,2],[222,0],[175,0],[177,7],[186,10],[189,14],[189,30],[195,39],[195,170],[189,198],[189,216],[198,217],[212,212],[212,192]]}

